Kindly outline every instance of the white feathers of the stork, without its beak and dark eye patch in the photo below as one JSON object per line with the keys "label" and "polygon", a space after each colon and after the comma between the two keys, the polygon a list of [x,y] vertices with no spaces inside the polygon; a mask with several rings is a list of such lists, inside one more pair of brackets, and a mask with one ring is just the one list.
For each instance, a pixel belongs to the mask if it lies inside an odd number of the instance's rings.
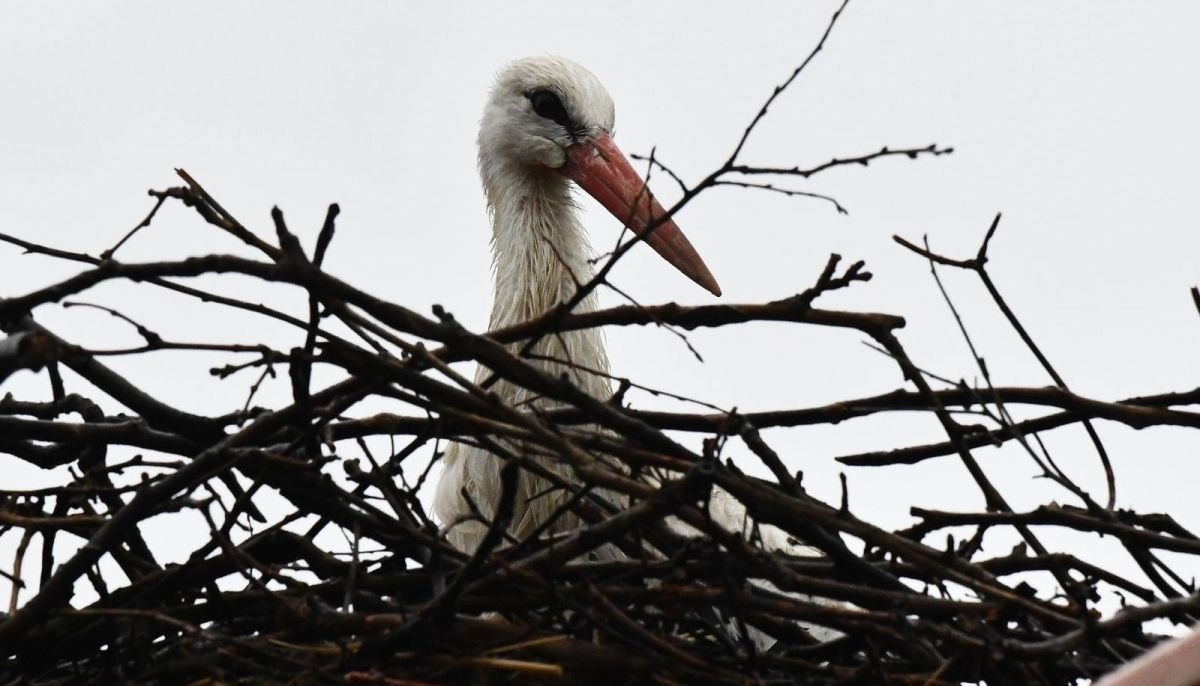
{"label": "white feathers of the stork, without its beak and dark eye patch", "polygon": [[[570,144],[562,127],[532,112],[527,94],[550,89],[558,94],[571,118],[588,131],[611,132],[613,104],[608,92],[586,68],[562,58],[542,56],[512,62],[497,77],[488,96],[479,132],[479,172],[492,218],[494,302],[490,326],[498,329],[532,319],[566,301],[580,283],[593,275],[592,249],[576,216],[570,182],[556,169],[565,161]],[[577,311],[595,309],[594,295]],[[512,347],[514,350],[517,345]],[[574,365],[533,360],[532,365],[554,374],[566,374],[578,387],[598,398],[608,398],[612,387],[605,377],[608,356],[599,330],[569,331],[547,336],[535,347],[536,355],[569,360]],[[590,371],[600,372],[592,373]],[[479,368],[476,381],[490,375]],[[540,403],[520,386],[500,381],[493,391],[512,407]],[[539,407],[548,407],[541,403]],[[539,458],[540,464],[566,481],[575,481],[571,469],[556,459]],[[448,526],[446,537],[458,549],[473,552],[487,525],[473,516],[472,504],[490,519],[500,498],[500,458],[467,444],[451,444],[443,457],[433,512]],[[509,532],[522,538],[556,512],[569,494],[551,489],[539,476],[521,470],[516,509]],[[469,498],[469,501],[468,501]],[[748,529],[745,509],[724,491],[714,491],[709,511],[730,529]],[[692,535],[680,522],[672,526]],[[578,526],[566,514],[552,531]],[[770,550],[792,555],[816,555],[815,549],[788,541],[774,528],[762,526],[763,543]],[[766,584],[769,586],[769,584]],[[803,597],[803,596],[797,596]],[[820,627],[816,627],[820,630]],[[820,630],[818,638],[835,632]],[[756,636],[756,640],[762,638]],[[763,642],[760,640],[760,644]]]}

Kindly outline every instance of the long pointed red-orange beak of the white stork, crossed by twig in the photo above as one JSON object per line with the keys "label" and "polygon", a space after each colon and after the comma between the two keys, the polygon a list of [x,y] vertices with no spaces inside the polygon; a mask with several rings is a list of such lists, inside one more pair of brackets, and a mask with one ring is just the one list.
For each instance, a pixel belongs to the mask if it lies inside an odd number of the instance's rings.
{"label": "long pointed red-orange beak of the white stork, crossed by twig", "polygon": [[[559,172],[578,183],[580,188],[599,200],[612,216],[637,235],[644,234],[659,217],[666,215],[662,205],[646,187],[646,181],[634,172],[629,158],[607,133],[601,133],[589,143],[576,143],[568,148],[566,164]],[[704,260],[700,259],[696,248],[691,247],[673,219],[659,223],[644,240],[684,276],[713,295],[721,295],[721,287],[716,285]]]}

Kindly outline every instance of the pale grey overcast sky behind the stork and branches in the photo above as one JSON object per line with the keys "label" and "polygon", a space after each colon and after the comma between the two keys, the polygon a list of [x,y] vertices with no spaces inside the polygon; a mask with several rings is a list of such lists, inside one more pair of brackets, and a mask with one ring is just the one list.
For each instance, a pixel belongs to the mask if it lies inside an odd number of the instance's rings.
{"label": "pale grey overcast sky behind the stork and branches", "polygon": [[[271,235],[268,211],[277,204],[312,245],[326,204],[341,203],[330,271],[416,311],[440,303],[482,330],[491,305],[490,228],[474,138],[504,62],[557,53],[588,66],[617,103],[618,143],[642,154],[656,146],[661,160],[695,181],[728,155],[834,7],[4,2],[0,231],[98,253],[149,210],[145,189],[178,183],[173,168],[182,167],[260,235]],[[1200,7],[1183,1],[1151,8],[856,0],[743,160],[811,166],[882,145],[935,142],[954,155],[884,160],[796,185],[835,195],[848,216],[814,200],[715,189],[678,222],[728,302],[793,294],[811,284],[830,252],[866,260],[872,282],[822,303],[902,314],[901,342],[918,365],[970,380],[970,353],[928,265],[890,236],[928,234],[935,248],[968,257],[1003,211],[990,270],[1074,390],[1120,399],[1195,387],[1200,315],[1187,289],[1200,282],[1198,20]],[[662,180],[654,189],[672,201],[676,191]],[[607,248],[616,222],[590,200],[583,205],[594,245]],[[170,204],[120,257],[210,252],[242,251]],[[77,270],[0,246],[0,295]],[[972,275],[943,277],[994,379],[1048,384]],[[712,301],[649,251],[631,253],[616,281],[643,302]],[[305,311],[294,290],[236,278],[202,282]],[[302,336],[150,288],[108,284],[79,300],[118,306],[168,339],[287,348]],[[36,314],[92,347],[138,343],[128,326],[102,313],[43,307]],[[853,333],[757,324],[698,331],[691,341],[704,363],[659,331],[608,332],[616,373],[743,410],[822,404],[902,384],[895,366]],[[241,407],[252,380],[206,373],[230,361],[158,353],[110,363],[188,410],[221,413]],[[70,377],[68,385],[86,391]],[[4,391],[28,399],[49,393],[44,377],[30,373]],[[283,380],[258,402],[288,396]],[[106,408],[120,410],[112,402]],[[1169,512],[1200,529],[1198,434],[1098,426],[1117,470],[1118,504]],[[833,458],[942,435],[931,416],[918,414],[767,433],[788,465],[804,470],[812,493],[836,499],[838,475],[846,471],[852,509],[886,526],[908,523],[912,505],[978,510],[982,498],[953,457],[848,470]],[[1100,470],[1082,431],[1044,438],[1058,462],[1099,494]],[[688,440],[698,444],[698,437]],[[1012,446],[976,455],[1016,509],[1074,503],[1033,479],[1034,467]],[[732,457],[760,470],[744,451]],[[6,488],[23,488],[55,483],[61,474],[0,456],[0,479]],[[174,517],[145,525],[164,558],[203,542],[202,525],[180,526]],[[1062,531],[1045,540],[1133,570],[1108,541]],[[10,564],[14,543],[11,534],[0,536],[0,565]],[[988,552],[1002,554],[1009,544],[989,538]],[[7,592],[0,580],[0,597]]]}

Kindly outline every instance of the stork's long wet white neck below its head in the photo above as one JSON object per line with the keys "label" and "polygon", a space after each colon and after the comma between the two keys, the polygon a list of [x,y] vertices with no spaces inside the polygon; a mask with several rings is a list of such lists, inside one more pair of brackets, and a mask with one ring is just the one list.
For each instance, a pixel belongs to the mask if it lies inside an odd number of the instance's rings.
{"label": "stork's long wet white neck below its head", "polygon": [[[575,294],[577,283],[587,283],[594,271],[588,261],[592,249],[565,179],[553,173],[504,174],[500,179],[485,173],[484,185],[492,212],[496,299],[491,327],[496,329],[528,320],[565,302]],[[592,309],[595,309],[594,294],[575,308]],[[532,361],[546,372],[566,373],[592,396],[610,395],[611,386],[604,377],[608,372],[608,356],[599,330],[546,336],[532,353],[553,359]],[[527,399],[523,390],[508,384],[497,391],[510,401]]]}

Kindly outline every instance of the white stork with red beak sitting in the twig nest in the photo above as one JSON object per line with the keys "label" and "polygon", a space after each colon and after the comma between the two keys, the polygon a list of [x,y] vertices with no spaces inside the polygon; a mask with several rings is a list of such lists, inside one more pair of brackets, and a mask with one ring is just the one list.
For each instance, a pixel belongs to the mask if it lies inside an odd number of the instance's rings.
{"label": "white stork with red beak sitting in the twig nest", "polygon": [[[500,70],[480,122],[478,166],[492,222],[494,300],[492,330],[520,324],[569,301],[580,284],[594,276],[592,248],[578,217],[572,187],[596,199],[620,224],[642,235],[644,242],[685,277],[714,296],[721,288],[712,271],[673,218],[613,140],[614,107],[600,80],[565,58],[545,55],[516,60]],[[595,291],[575,312],[596,308]],[[520,344],[514,344],[516,350]],[[607,399],[608,355],[596,329],[546,336],[527,353],[530,365],[565,375],[588,395]],[[476,371],[482,384],[491,375]],[[510,407],[541,402],[518,385],[498,381],[492,391]],[[545,407],[545,405],[542,405]],[[484,447],[454,443],[443,456],[443,471],[434,488],[433,513],[443,523],[446,540],[473,553],[487,534],[500,499],[502,458]],[[533,457],[544,469],[576,481],[571,468],[551,458]],[[508,534],[516,540],[545,530],[565,532],[578,519],[562,513],[569,498],[545,479],[521,470]],[[731,530],[749,530],[745,509],[728,493],[713,489],[708,511]],[[682,534],[695,535],[682,522],[668,522]],[[815,555],[774,526],[755,526],[770,550]],[[611,547],[608,547],[611,548]],[[613,552],[612,556],[619,553]],[[763,584],[769,588],[769,584]],[[818,639],[836,632],[809,627]]]}

